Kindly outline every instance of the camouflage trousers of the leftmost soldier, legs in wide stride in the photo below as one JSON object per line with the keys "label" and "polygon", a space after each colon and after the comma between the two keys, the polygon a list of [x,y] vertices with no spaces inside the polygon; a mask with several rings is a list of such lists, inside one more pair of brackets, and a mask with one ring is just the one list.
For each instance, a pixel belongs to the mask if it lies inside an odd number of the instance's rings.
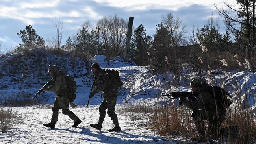
{"label": "camouflage trousers of the leftmost soldier, legs in wide stride", "polygon": [[69,98],[61,98],[56,96],[52,107],[52,119],[51,123],[56,124],[59,117],[59,109],[62,110],[62,113],[68,115],[72,120],[77,121],[79,118],[72,111],[69,110]]}

